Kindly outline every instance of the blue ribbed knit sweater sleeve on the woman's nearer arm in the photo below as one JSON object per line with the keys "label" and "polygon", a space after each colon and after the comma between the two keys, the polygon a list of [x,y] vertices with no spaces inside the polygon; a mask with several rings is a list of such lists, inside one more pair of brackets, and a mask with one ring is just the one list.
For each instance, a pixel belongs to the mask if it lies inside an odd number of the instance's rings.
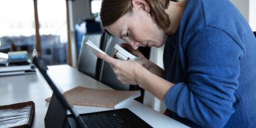
{"label": "blue ribbed knit sweater sleeve on the woman's nearer arm", "polygon": [[225,31],[205,27],[186,45],[188,83],[166,93],[166,107],[202,127],[224,127],[234,113],[241,47]]}

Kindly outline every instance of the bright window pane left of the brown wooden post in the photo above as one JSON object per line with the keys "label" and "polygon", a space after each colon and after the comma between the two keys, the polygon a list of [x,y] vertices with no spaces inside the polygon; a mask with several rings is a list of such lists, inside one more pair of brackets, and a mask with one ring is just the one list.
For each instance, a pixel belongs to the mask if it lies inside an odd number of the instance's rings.
{"label": "bright window pane left of the brown wooden post", "polygon": [[31,53],[35,47],[33,1],[0,1],[0,12],[0,46]]}

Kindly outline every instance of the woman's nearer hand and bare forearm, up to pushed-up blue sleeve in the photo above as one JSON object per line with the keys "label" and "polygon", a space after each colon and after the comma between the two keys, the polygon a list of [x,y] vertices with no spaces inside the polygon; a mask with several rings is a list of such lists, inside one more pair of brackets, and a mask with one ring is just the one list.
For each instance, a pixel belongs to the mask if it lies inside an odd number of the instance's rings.
{"label": "woman's nearer hand and bare forearm, up to pushed-up blue sleeve", "polygon": [[[119,81],[124,84],[138,84],[141,88],[156,95],[156,97],[162,101],[164,101],[168,90],[174,86],[173,83],[152,74],[152,72],[141,66],[138,61],[122,61],[101,53],[98,53],[97,56],[113,67]],[[156,70],[156,68],[154,68],[154,70]]]}

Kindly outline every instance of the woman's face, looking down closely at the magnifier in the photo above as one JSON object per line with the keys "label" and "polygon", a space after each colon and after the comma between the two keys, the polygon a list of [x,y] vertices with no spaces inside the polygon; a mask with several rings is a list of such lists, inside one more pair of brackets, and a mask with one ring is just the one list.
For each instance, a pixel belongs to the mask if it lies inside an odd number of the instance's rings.
{"label": "woman's face, looking down closely at the magnifier", "polygon": [[142,47],[161,47],[165,34],[152,20],[151,16],[142,9],[133,8],[106,29],[114,36],[122,38],[133,49]]}

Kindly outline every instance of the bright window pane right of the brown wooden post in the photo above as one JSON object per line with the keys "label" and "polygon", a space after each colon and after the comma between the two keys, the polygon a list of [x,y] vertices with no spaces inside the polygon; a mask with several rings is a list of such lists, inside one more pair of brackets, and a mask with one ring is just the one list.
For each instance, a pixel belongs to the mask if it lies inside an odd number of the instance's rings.
{"label": "bright window pane right of the brown wooden post", "polygon": [[63,0],[37,0],[42,58],[47,65],[67,63],[67,9]]}

